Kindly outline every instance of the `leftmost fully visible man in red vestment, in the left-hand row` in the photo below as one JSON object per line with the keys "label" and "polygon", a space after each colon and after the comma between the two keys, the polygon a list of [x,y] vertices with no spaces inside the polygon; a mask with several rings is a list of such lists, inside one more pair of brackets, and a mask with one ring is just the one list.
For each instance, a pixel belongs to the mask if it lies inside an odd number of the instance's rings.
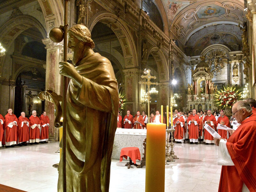
{"label": "leftmost fully visible man in red vestment, in the left-hand row", "polygon": [[14,147],[17,144],[17,123],[18,119],[16,115],[12,114],[12,109],[7,110],[7,114],[4,116],[4,135],[5,135],[5,146]]}

